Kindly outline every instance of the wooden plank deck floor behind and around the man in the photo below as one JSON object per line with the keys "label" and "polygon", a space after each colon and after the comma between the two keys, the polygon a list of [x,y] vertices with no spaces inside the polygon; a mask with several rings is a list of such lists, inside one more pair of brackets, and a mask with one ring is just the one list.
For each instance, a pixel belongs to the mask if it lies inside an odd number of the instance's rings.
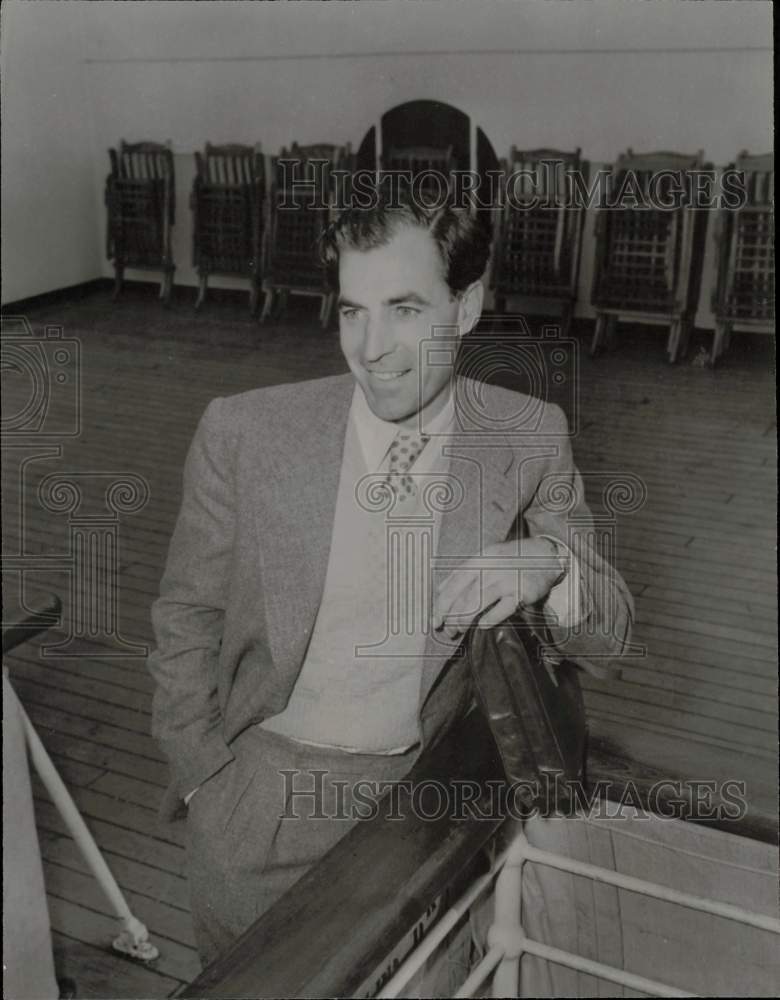
{"label": "wooden plank deck floor behind and around the man", "polygon": [[[29,319],[36,330],[62,325],[81,343],[82,430],[55,442],[60,457],[45,454],[52,440],[42,437],[4,449],[4,552],[67,552],[67,516],[37,500],[45,475],[143,477],[150,499],[119,528],[120,630],[149,645],[182,462],[204,407],[217,395],[343,371],[337,338],[308,314],[258,328],[243,303],[209,303],[196,315],[187,297],[165,311],[133,288],[116,306],[98,292]],[[605,731],[683,739],[687,759],[679,763],[688,774],[715,747],[733,752],[736,777],[755,773],[774,787],[772,345],[737,339],[713,372],[669,367],[658,332],[624,339],[598,361],[582,352],[575,455],[584,471],[632,472],[647,485],[644,508],[620,521],[617,563],[636,595],[636,638],[648,655],[619,682],[589,683],[588,710]],[[4,414],[12,414],[27,389],[13,372],[7,383],[4,376]],[[70,405],[53,399],[55,418],[64,420]],[[25,579],[30,594],[67,597],[63,568]],[[7,571],[9,603],[18,585],[19,574]],[[110,641],[82,639],[75,650],[90,655],[44,660],[28,644],[9,657],[12,680],[161,957],[143,968],[107,950],[115,923],[36,783],[58,971],[78,981],[83,997],[167,996],[196,974],[198,961],[182,833],[155,813],[166,769],[149,735],[151,680],[142,657],[109,655],[117,652]]]}

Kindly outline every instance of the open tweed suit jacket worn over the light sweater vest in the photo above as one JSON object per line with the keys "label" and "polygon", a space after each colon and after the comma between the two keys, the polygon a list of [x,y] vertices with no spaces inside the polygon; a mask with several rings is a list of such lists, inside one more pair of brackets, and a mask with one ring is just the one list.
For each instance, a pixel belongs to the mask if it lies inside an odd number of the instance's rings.
{"label": "open tweed suit jacket worn over the light sweater vest", "polygon": [[[281,712],[295,685],[325,582],[354,385],[343,375],[257,389],[214,399],[200,420],[152,608],[153,733],[172,779],[164,814],[232,759],[231,741],[247,726]],[[633,605],[588,543],[592,524],[563,413],[467,379],[456,388],[457,430],[446,446],[458,495],[442,514],[436,556],[456,564],[524,535],[571,545],[576,523],[589,621],[598,627],[576,640],[563,628],[553,635],[598,671],[628,642]],[[563,506],[549,501],[561,489],[570,498]],[[451,645],[428,636],[423,744],[467,703],[458,661]]]}

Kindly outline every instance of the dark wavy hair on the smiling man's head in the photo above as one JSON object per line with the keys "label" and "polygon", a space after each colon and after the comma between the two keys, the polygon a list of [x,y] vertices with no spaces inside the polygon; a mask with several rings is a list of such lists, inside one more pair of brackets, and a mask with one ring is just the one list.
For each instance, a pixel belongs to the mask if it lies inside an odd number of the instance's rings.
{"label": "dark wavy hair on the smiling man's head", "polygon": [[484,274],[491,244],[485,219],[448,204],[420,204],[411,193],[392,201],[380,193],[369,208],[344,209],[320,237],[320,257],[332,287],[338,287],[342,250],[387,246],[405,225],[419,226],[431,234],[441,257],[444,280],[453,295],[465,291]]}

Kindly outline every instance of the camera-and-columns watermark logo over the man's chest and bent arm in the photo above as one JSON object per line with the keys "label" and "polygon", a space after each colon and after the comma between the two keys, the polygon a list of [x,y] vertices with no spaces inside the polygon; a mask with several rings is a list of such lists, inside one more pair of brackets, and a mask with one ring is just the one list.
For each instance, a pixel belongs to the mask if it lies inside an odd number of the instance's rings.
{"label": "camera-and-columns watermark logo over the man's chest and bent arm", "polygon": [[[423,408],[426,371],[455,368],[460,341],[449,329],[435,329],[420,342],[418,412]],[[525,526],[513,515],[525,512],[532,533],[552,533],[576,562],[564,575],[559,606],[580,609],[568,628],[562,657],[607,658],[593,638],[614,639],[621,600],[610,570],[618,555],[620,519],[638,513],[647,502],[644,481],[619,469],[580,473],[572,458],[571,439],[580,427],[579,344],[556,326],[531,333],[522,316],[505,316],[485,334],[473,337],[459,375],[452,383],[452,419],[429,432],[428,466],[407,474],[416,503],[399,498],[384,473],[365,475],[357,484],[358,506],[384,518],[384,617],[373,634],[355,646],[356,657],[436,658],[455,652],[453,636],[433,627],[439,588],[451,574],[477,573],[469,607],[451,620],[457,639],[491,603],[491,589],[501,578],[502,593],[526,592],[525,574],[543,570],[560,574],[555,554],[524,554]],[[486,380],[526,387],[507,393],[499,408],[489,404]],[[550,397],[562,407],[545,402]],[[563,416],[567,411],[567,418]],[[422,432],[424,427],[420,427]],[[457,520],[456,545],[439,545],[444,520]],[[490,546],[490,537],[503,537]],[[527,549],[527,546],[526,546]],[[563,599],[565,596],[565,600]],[[591,613],[598,609],[598,614]],[[450,632],[452,629],[450,630]],[[410,651],[407,637],[422,635],[425,649]],[[457,646],[457,642],[455,643]],[[606,648],[606,647],[605,647]],[[585,652],[587,650],[587,652]],[[643,657],[644,646],[623,644],[623,656]]]}

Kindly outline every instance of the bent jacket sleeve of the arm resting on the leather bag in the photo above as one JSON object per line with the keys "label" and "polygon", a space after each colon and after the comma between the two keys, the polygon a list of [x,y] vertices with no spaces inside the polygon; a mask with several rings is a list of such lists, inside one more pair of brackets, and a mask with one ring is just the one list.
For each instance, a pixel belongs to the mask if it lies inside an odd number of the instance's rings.
{"label": "bent jacket sleeve of the arm resting on the leather bag", "polygon": [[593,516],[585,486],[574,463],[566,417],[557,406],[546,408],[545,436],[554,455],[545,463],[531,502],[523,512],[531,536],[546,535],[562,542],[575,556],[576,578],[565,581],[580,588],[582,619],[572,627],[550,623],[558,651],[590,673],[615,673],[614,659],[628,646],[634,603],[620,574],[597,551]]}

